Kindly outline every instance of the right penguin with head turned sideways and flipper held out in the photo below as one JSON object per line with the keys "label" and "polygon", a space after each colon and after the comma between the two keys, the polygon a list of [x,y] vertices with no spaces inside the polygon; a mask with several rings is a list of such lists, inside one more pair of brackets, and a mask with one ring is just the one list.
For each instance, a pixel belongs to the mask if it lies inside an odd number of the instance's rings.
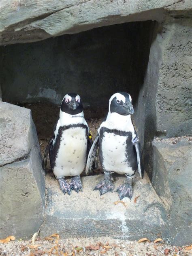
{"label": "right penguin with head turned sideways and flipper held out", "polygon": [[133,113],[130,94],[117,92],[111,96],[109,112],[98,128],[85,170],[88,174],[99,147],[99,160],[105,176],[94,190],[99,190],[100,195],[115,188],[112,173],[126,176],[126,182],[116,190],[120,200],[124,197],[132,198],[132,178],[137,170],[143,179],[144,168],[139,137],[131,120]]}

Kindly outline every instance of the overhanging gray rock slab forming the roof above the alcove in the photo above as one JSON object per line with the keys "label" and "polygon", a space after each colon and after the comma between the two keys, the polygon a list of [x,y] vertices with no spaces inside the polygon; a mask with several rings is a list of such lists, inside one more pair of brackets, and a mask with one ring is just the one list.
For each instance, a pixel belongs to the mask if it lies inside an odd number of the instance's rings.
{"label": "overhanging gray rock slab forming the roof above the alcove", "polygon": [[162,21],[165,10],[191,8],[190,0],[2,0],[0,45],[39,41],[130,21]]}

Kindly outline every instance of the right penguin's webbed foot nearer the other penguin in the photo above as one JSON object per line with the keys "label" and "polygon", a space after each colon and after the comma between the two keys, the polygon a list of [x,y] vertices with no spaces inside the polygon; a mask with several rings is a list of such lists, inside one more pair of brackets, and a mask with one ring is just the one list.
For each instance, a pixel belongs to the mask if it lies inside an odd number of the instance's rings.
{"label": "right penguin's webbed foot nearer the other penguin", "polygon": [[113,179],[111,177],[111,174],[109,173],[105,174],[105,178],[102,181],[100,181],[100,183],[98,183],[98,185],[94,188],[94,190],[99,190],[100,196],[109,191],[112,191],[115,188],[112,180]]}

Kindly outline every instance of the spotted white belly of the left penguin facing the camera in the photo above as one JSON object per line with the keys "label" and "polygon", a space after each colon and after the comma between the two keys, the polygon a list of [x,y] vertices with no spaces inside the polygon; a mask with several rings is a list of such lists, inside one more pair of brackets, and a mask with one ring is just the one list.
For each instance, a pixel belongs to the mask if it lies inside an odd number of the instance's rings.
{"label": "spotted white belly of the left penguin facing the camera", "polygon": [[85,128],[69,128],[62,132],[53,173],[57,178],[80,175],[85,168],[87,139]]}

